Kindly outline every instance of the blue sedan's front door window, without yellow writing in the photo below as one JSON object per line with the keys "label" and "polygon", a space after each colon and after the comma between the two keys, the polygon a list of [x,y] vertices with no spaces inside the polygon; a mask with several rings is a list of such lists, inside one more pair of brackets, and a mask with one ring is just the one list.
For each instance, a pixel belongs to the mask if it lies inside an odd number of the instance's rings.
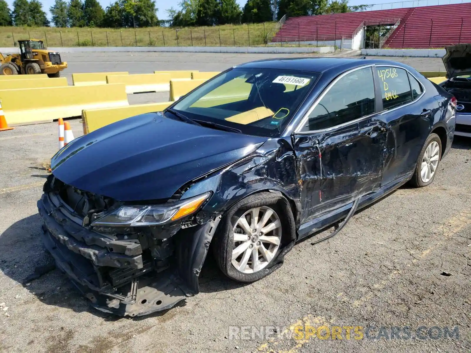
{"label": "blue sedan's front door window, without yellow writing", "polygon": [[355,70],[338,80],[309,114],[303,131],[331,128],[374,113],[371,67]]}

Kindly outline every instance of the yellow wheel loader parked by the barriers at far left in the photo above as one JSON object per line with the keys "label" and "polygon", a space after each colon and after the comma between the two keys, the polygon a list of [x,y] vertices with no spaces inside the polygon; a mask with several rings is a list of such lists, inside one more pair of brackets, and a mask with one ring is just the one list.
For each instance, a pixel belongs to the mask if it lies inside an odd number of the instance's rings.
{"label": "yellow wheel loader parked by the barriers at far left", "polygon": [[0,75],[47,73],[49,77],[59,77],[67,67],[59,53],[44,48],[42,40],[18,40],[19,54],[0,53]]}

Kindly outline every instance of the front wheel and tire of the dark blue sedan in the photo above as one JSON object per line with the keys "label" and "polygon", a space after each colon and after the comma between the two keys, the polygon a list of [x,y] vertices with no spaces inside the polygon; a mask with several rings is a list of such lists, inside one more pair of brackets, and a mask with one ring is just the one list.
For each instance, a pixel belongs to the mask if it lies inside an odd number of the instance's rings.
{"label": "front wheel and tire of the dark blue sedan", "polygon": [[257,193],[238,201],[222,218],[213,252],[221,271],[239,282],[253,282],[272,273],[291,229],[280,197]]}

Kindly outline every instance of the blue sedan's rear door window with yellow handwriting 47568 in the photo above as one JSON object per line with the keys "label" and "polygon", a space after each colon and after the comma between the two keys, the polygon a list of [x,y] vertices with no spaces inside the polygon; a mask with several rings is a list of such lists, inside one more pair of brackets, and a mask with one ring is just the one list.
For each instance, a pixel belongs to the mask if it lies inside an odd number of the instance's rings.
{"label": "blue sedan's rear door window with yellow handwriting 47568", "polygon": [[407,71],[398,67],[377,66],[383,109],[388,110],[412,102]]}

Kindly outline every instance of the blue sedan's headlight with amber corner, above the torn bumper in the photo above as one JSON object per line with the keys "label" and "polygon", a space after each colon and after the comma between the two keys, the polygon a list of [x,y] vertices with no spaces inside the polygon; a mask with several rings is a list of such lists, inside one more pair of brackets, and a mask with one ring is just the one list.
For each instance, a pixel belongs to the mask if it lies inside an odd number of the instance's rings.
{"label": "blue sedan's headlight with amber corner, above the torn bumper", "polygon": [[94,226],[131,226],[160,225],[191,215],[196,212],[211,193],[175,202],[172,205],[121,206],[106,216],[92,222]]}

